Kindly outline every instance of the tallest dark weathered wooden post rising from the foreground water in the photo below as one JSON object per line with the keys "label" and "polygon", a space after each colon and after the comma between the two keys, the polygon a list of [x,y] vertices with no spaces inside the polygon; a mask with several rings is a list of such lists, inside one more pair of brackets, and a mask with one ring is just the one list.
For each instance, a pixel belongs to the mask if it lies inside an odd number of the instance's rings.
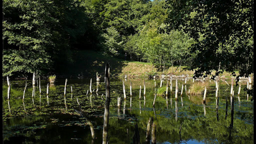
{"label": "tallest dark weathered wooden post rising from the foreground water", "polygon": [[104,125],[103,125],[103,135],[102,144],[108,143],[108,117],[109,117],[109,104],[110,104],[110,68],[109,64],[106,63],[105,68],[105,79],[106,79],[106,102],[104,106]]}

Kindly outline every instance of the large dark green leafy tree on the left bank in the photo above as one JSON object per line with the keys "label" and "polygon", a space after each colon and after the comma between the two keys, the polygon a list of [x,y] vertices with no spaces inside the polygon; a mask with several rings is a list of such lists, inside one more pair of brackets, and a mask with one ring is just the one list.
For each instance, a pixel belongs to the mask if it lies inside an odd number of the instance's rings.
{"label": "large dark green leafy tree on the left bank", "polygon": [[3,76],[51,72],[85,24],[77,1],[3,1]]}

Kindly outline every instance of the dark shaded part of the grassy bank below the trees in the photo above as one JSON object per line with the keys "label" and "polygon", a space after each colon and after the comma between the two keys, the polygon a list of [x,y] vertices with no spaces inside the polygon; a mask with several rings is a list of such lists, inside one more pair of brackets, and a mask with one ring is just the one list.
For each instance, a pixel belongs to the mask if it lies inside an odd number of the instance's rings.
{"label": "dark shaded part of the grassy bank below the trees", "polygon": [[111,75],[117,76],[125,66],[124,60],[104,56],[100,52],[77,50],[72,53],[73,62],[63,62],[63,64],[57,66],[57,77],[84,78],[88,76],[96,76],[96,72],[103,76],[106,62],[109,62],[110,64]]}

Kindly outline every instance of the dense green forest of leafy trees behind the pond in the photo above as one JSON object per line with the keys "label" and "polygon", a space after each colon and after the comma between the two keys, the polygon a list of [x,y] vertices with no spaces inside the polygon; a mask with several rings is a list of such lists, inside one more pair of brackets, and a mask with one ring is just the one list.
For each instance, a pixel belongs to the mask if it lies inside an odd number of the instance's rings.
{"label": "dense green forest of leafy trees behind the pond", "polygon": [[[3,0],[2,76],[53,74],[74,50],[195,76],[253,71],[253,0]],[[238,75],[234,71],[238,71]]]}

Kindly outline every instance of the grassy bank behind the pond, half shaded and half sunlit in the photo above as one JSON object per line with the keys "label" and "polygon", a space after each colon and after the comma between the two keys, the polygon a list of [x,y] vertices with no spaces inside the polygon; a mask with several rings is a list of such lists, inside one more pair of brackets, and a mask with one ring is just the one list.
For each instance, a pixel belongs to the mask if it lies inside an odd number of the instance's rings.
{"label": "grassy bank behind the pond, half shaded and half sunlit", "polygon": [[[125,61],[111,56],[104,56],[100,52],[94,52],[90,50],[73,51],[73,61],[68,64],[58,66],[57,75],[77,77],[78,75],[84,77],[96,76],[96,72],[104,76],[104,66],[106,62],[110,63],[110,74],[112,76],[144,76],[164,74],[189,74],[193,76],[193,71],[188,70],[187,66],[168,66],[163,71],[159,66],[153,66],[152,63],[147,62],[134,62]],[[238,72],[236,72],[238,73]],[[224,72],[220,76],[224,75],[226,78],[230,77],[229,72]]]}

